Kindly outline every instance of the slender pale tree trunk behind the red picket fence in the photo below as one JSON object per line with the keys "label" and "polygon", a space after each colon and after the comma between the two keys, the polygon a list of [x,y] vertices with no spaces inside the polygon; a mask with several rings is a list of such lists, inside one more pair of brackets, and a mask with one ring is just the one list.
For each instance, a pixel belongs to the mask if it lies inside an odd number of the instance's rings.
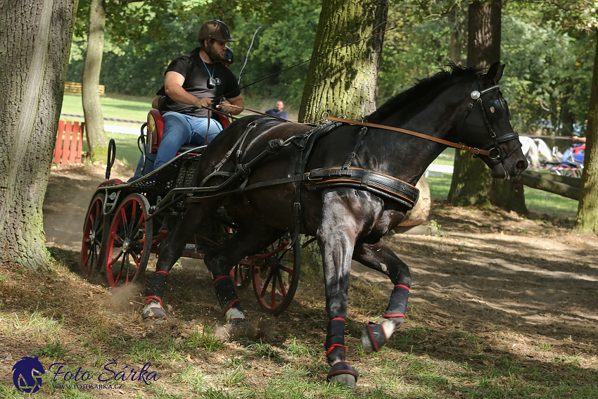
{"label": "slender pale tree trunk behind the red picket fence", "polygon": [[83,113],[85,115],[87,147],[91,153],[91,160],[102,160],[101,157],[106,154],[106,148],[108,148],[99,94],[105,27],[105,1],[91,0],[89,5],[87,55],[85,56],[82,80]]}

